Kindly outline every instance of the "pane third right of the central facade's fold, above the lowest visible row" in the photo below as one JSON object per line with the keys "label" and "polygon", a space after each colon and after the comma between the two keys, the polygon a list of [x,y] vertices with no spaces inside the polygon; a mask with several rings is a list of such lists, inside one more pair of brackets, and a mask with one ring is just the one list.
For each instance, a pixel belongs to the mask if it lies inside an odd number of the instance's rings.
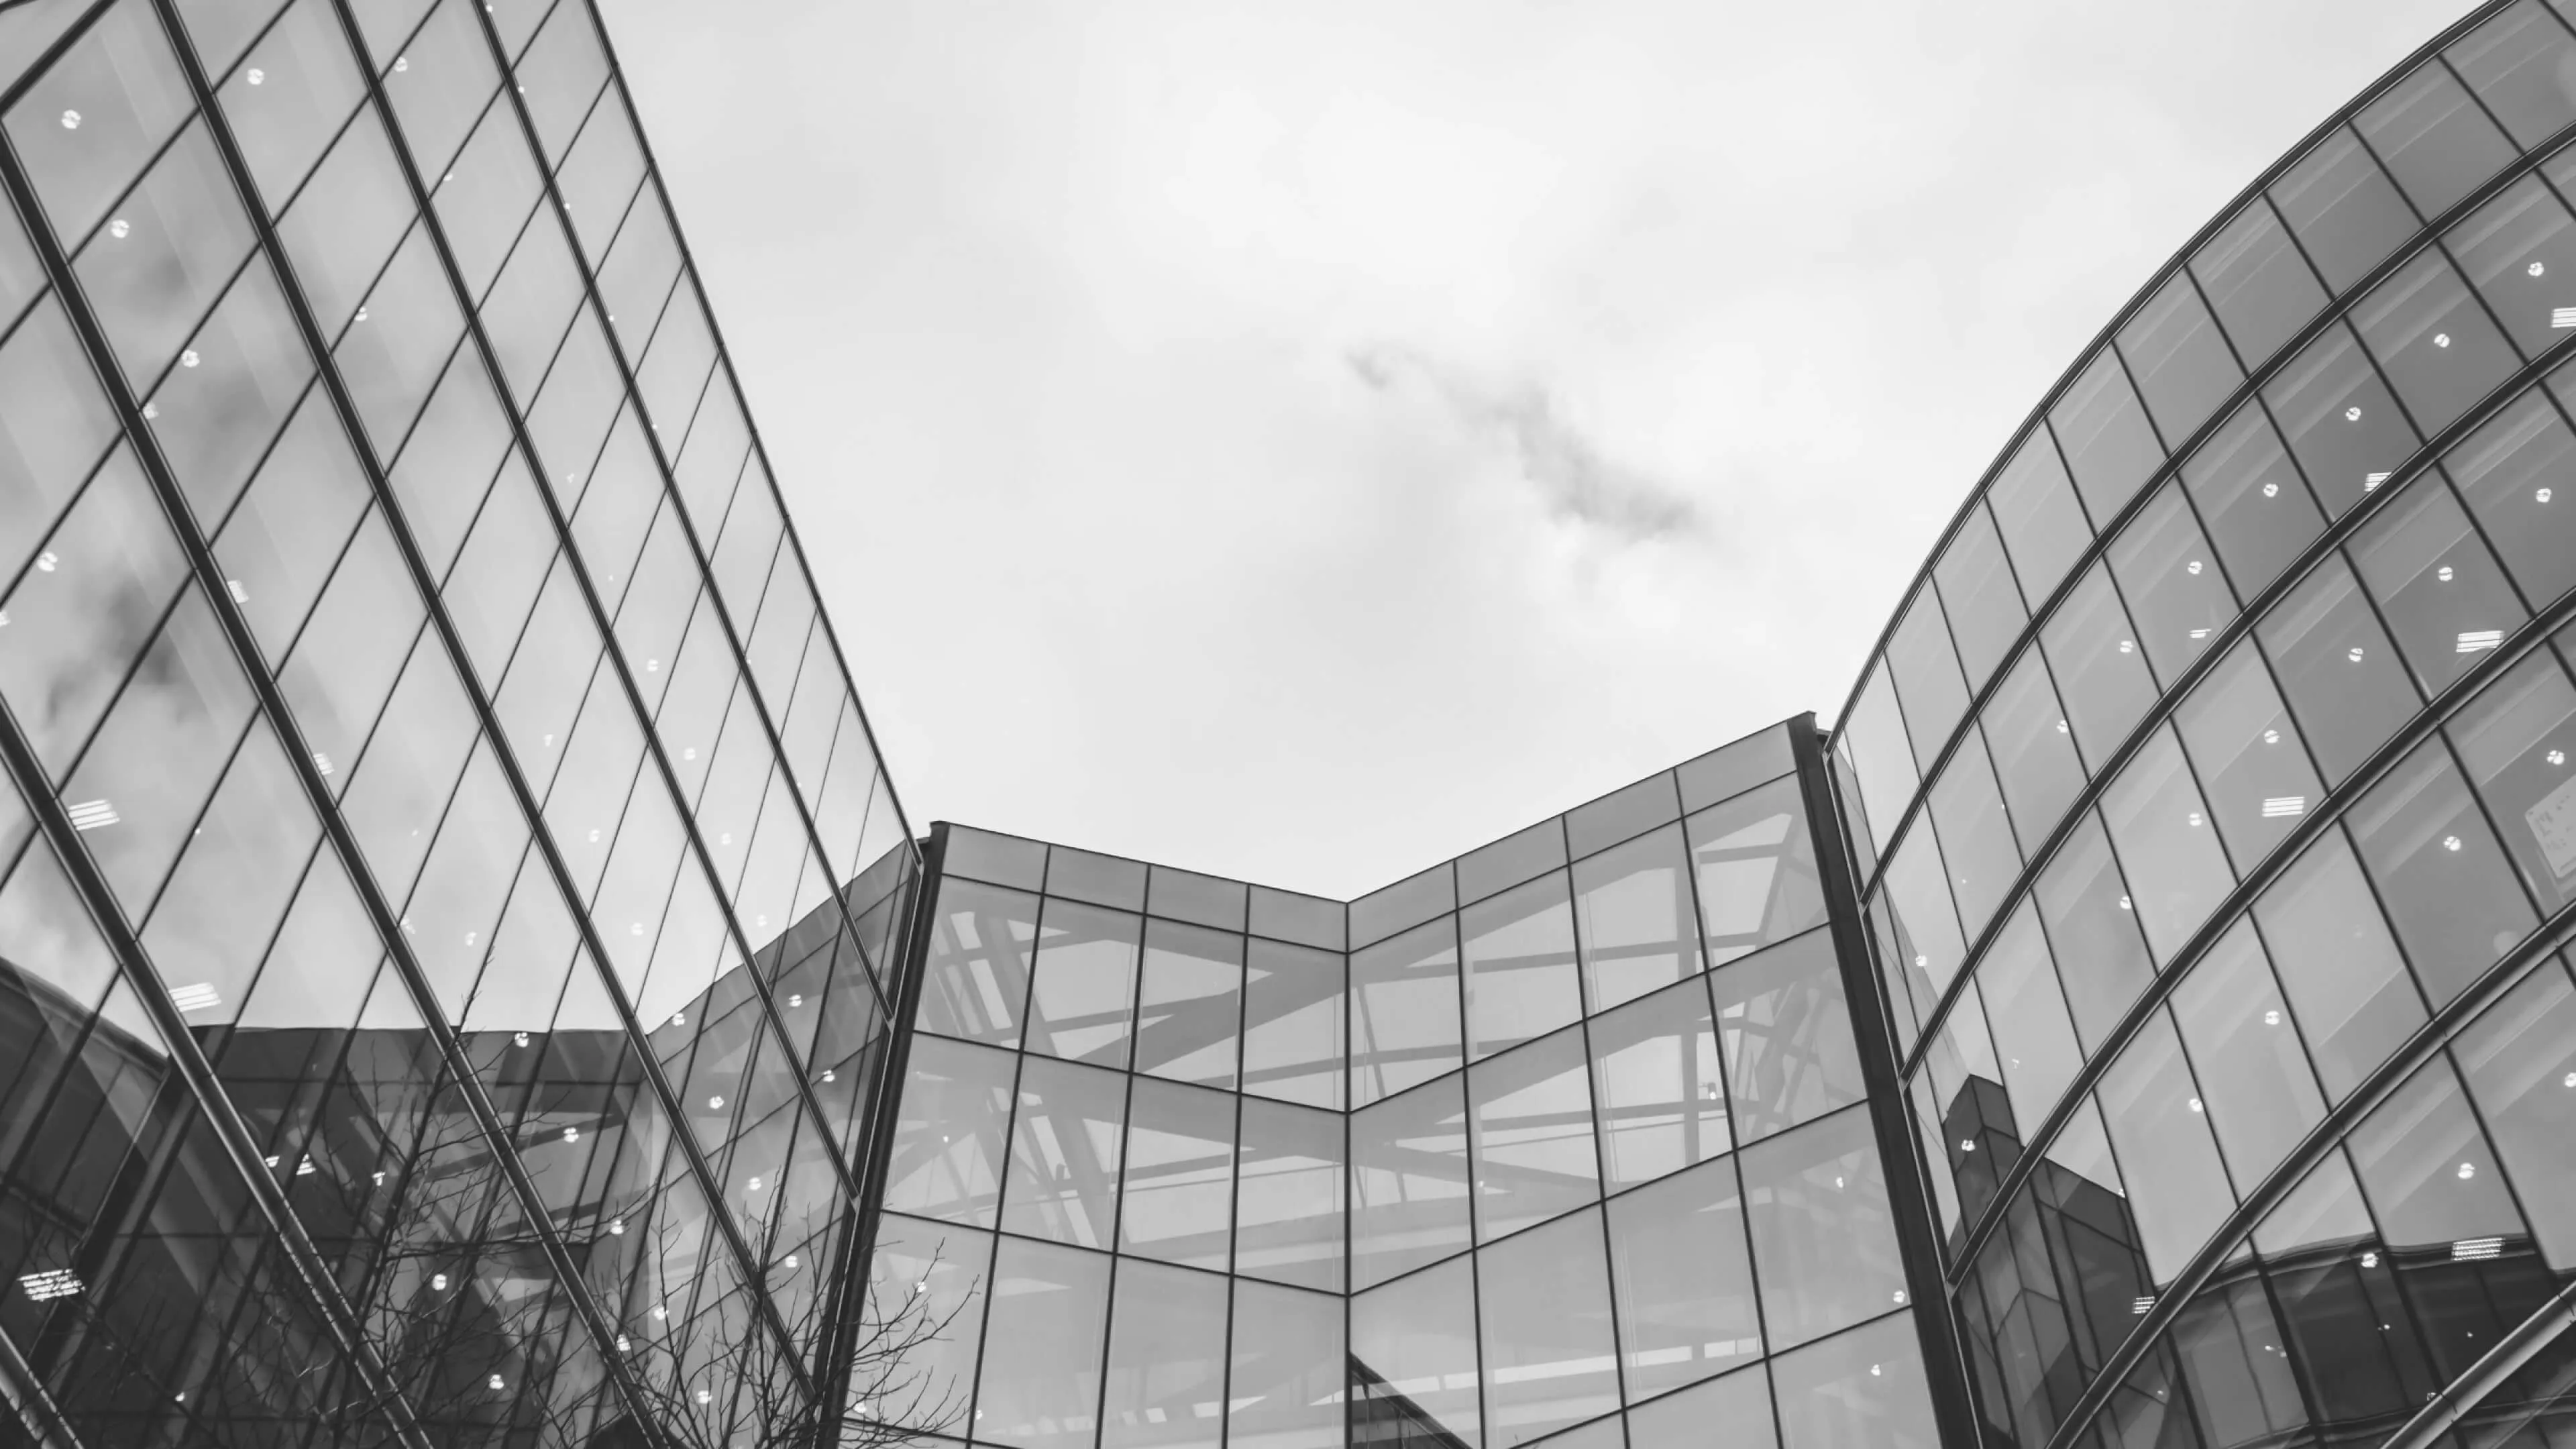
{"label": "pane third right of the central facade's fold, above the lowest visible row", "polygon": [[1643,1400],[1762,1354],[1736,1165],[1610,1199],[1610,1287],[1628,1397]]}

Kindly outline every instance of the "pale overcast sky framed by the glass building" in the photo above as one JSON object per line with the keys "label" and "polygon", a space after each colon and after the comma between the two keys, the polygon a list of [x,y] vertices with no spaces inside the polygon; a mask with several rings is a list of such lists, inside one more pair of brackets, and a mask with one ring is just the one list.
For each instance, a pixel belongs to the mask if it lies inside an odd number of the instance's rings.
{"label": "pale overcast sky framed by the glass building", "polygon": [[917,828],[1347,897],[1832,719],[2460,0],[608,0]]}

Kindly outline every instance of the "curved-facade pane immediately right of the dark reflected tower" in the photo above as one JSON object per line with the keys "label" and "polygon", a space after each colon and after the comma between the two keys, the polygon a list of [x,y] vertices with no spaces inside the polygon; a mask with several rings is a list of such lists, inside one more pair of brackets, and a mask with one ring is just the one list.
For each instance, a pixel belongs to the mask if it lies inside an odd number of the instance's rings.
{"label": "curved-facade pane immediately right of the dark reflected tower", "polygon": [[2236,1207],[2218,1142],[2166,1013],[2154,1013],[2102,1073],[2102,1122],[2120,1152],[2128,1209],[2156,1284],[2192,1261]]}

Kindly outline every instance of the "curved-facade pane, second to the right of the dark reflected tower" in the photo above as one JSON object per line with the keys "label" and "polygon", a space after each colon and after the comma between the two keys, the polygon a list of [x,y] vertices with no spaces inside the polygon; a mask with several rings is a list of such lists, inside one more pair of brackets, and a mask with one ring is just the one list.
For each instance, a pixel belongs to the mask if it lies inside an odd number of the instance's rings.
{"label": "curved-facade pane, second to the right of the dark reflected tower", "polygon": [[2264,1181],[2326,1116],[2326,1098],[2251,920],[2174,987],[2174,1024],[2228,1171],[2239,1183]]}

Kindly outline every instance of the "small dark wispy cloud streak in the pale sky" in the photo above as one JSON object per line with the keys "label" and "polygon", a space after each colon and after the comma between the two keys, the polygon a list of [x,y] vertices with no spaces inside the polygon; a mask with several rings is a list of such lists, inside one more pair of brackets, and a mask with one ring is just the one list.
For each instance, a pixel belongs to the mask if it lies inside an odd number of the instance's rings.
{"label": "small dark wispy cloud streak in the pale sky", "polygon": [[1427,384],[1461,425],[1512,449],[1520,477],[1558,518],[1574,518],[1625,541],[1698,534],[1703,526],[1700,508],[1687,492],[1605,456],[1582,428],[1556,413],[1556,400],[1535,382],[1497,392],[1455,366],[1396,343],[1350,348],[1342,358],[1373,392],[1394,392],[1406,376]]}

